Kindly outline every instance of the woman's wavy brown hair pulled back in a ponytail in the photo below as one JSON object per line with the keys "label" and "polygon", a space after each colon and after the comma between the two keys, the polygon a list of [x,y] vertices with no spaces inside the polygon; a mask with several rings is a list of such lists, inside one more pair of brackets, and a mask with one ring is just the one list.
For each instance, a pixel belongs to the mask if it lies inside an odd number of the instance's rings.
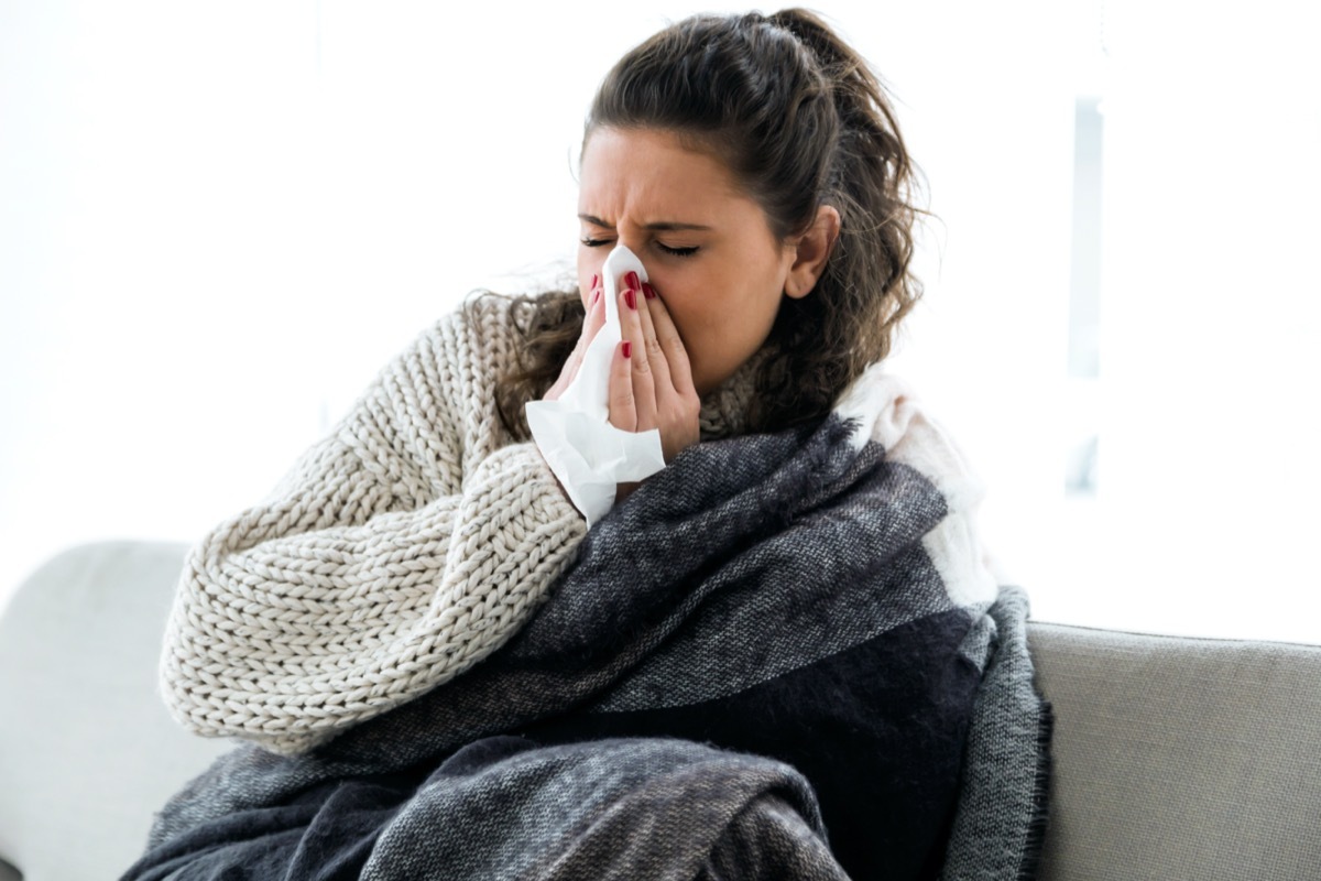
{"label": "woman's wavy brown hair pulled back in a ponytail", "polygon": [[[807,297],[785,297],[753,396],[753,431],[824,416],[835,398],[890,351],[921,296],[909,273],[914,169],[876,74],[803,9],[684,18],[610,70],[587,118],[601,127],[675,132],[713,152],[766,213],[779,238],[804,232],[823,205],[840,235]],[[576,292],[520,297],[510,309],[526,338],[497,403],[527,436],[523,404],[559,376],[583,326]]]}

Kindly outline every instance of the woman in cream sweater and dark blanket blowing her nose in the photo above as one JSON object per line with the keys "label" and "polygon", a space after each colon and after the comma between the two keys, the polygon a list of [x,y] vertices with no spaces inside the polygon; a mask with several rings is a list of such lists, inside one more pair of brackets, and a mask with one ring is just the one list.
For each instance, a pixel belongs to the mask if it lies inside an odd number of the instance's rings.
{"label": "woman in cream sweater and dark blanket blowing her nose", "polygon": [[[132,877],[939,870],[996,589],[958,453],[872,367],[919,291],[876,78],[802,11],[688,18],[606,77],[580,180],[577,292],[439,322],[190,555],[165,697],[260,749]],[[589,534],[523,407],[617,246],[609,420],[668,466]]]}

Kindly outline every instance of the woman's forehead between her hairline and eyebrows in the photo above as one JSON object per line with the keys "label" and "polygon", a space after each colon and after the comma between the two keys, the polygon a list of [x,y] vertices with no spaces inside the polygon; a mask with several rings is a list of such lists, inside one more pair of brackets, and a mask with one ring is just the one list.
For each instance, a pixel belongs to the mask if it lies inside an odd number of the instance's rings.
{"label": "woman's forehead between her hairline and eyebrows", "polygon": [[664,219],[688,221],[694,214],[742,213],[749,205],[757,207],[723,161],[686,147],[671,132],[598,128],[583,148],[581,211],[627,214],[638,222],[683,214]]}

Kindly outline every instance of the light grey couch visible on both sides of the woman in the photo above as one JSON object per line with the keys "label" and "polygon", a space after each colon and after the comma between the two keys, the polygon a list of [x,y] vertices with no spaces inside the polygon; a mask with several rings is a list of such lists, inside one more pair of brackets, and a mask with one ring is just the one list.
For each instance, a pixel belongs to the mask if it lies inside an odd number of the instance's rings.
{"label": "light grey couch visible on both sides of the woman", "polygon": [[[114,878],[227,749],[156,695],[177,544],[73,548],[0,619],[0,881]],[[1055,709],[1041,877],[1321,878],[1321,646],[1033,623]]]}

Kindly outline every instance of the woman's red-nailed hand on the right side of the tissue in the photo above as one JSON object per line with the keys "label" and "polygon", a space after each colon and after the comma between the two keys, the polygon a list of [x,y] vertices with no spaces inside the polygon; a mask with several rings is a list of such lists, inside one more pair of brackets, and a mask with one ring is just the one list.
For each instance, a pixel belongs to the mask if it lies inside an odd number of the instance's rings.
{"label": "woman's red-nailed hand on the right side of the tissue", "polygon": [[[701,400],[692,384],[688,353],[668,309],[635,272],[624,279],[620,329],[624,341],[610,367],[610,424],[626,432],[660,431],[660,449],[670,462],[699,440]],[[621,485],[618,498],[631,486]]]}

